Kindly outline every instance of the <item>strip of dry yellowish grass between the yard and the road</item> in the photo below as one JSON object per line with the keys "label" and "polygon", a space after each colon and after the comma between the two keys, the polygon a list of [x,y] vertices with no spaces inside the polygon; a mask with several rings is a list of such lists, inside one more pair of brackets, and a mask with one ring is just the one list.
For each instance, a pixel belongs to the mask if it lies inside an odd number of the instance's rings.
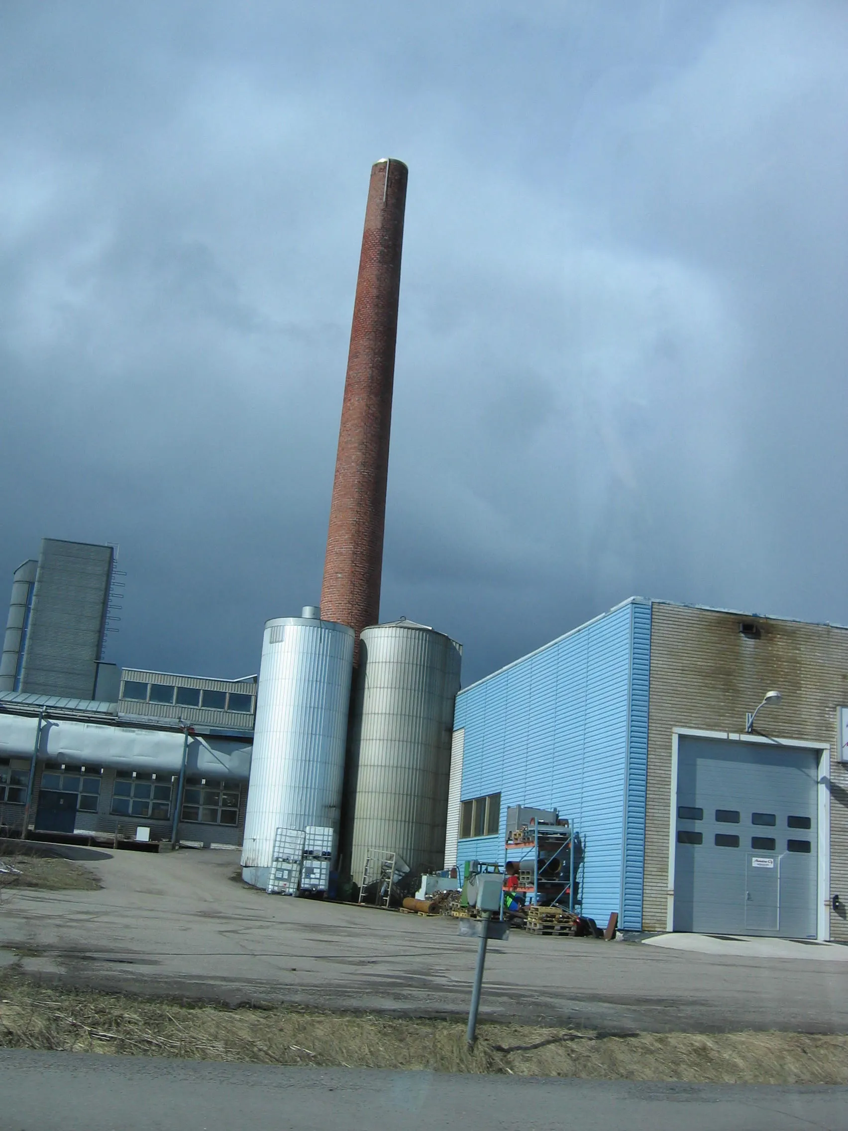
{"label": "strip of dry yellowish grass between the yard and the road", "polygon": [[847,1083],[848,1037],[791,1033],[632,1036],[301,1009],[187,1005],[0,981],[0,1046],[346,1068],[606,1080]]}

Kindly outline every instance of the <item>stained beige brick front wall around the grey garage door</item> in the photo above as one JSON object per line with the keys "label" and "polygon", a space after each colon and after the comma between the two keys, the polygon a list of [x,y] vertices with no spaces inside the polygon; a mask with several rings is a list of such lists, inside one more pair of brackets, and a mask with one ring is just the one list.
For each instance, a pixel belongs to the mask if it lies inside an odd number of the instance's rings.
{"label": "stained beige brick front wall around the grey garage door", "polygon": [[[754,621],[761,638],[743,637],[742,620]],[[738,734],[745,711],[772,688],[782,702],[763,708],[758,731],[830,745],[830,892],[820,895],[839,892],[848,903],[848,768],[838,761],[848,629],[655,603],[650,672],[644,930],[666,927],[673,727]],[[848,941],[843,915],[831,913],[831,938]]]}

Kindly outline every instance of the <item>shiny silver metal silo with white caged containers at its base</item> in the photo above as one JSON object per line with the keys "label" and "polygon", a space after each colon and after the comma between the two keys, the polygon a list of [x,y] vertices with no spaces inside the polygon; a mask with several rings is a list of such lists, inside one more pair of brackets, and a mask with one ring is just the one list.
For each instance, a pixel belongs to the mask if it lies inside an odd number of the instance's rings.
{"label": "shiny silver metal silo with white caged containers at its base", "polygon": [[266,887],[277,829],[325,826],[338,843],[354,631],[302,616],[268,621],[257,689],[242,875]]}

